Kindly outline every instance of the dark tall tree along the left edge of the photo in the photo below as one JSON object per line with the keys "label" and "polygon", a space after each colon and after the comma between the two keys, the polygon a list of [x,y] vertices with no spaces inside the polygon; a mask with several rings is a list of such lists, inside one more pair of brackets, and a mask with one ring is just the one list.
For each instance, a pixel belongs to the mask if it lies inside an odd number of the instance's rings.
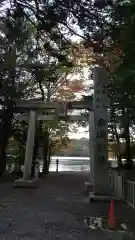
{"label": "dark tall tree along the left edge of the photo", "polygon": [[[14,14],[19,11],[19,18],[14,21]],[[24,56],[23,47],[26,41],[27,29],[23,25],[19,9],[10,12],[7,11],[5,17],[1,17],[1,32],[0,32],[0,176],[6,168],[6,148],[8,139],[12,134],[12,119],[14,113],[14,98],[23,96],[21,87],[26,86],[22,82],[23,69],[20,68],[21,60]],[[22,51],[21,51],[22,50]]]}

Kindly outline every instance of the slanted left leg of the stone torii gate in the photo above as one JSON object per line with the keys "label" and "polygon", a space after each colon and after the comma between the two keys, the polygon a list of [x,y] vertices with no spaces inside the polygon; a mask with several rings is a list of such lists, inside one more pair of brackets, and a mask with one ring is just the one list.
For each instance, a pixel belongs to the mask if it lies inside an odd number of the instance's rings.
{"label": "slanted left leg of the stone torii gate", "polygon": [[33,157],[35,127],[36,127],[36,113],[35,111],[31,110],[29,112],[28,135],[27,135],[26,152],[25,152],[24,172],[23,172],[24,180],[31,178],[31,165],[32,165],[32,157]]}

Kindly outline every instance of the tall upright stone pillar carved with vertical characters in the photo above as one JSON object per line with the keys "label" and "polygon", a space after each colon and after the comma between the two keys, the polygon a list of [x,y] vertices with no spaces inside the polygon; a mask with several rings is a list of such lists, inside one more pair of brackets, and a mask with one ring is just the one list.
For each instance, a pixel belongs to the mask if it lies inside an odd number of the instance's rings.
{"label": "tall upright stone pillar carved with vertical characters", "polygon": [[106,91],[107,72],[103,67],[93,69],[94,80],[94,147],[91,170],[93,171],[94,196],[109,196],[108,173],[108,98]]}

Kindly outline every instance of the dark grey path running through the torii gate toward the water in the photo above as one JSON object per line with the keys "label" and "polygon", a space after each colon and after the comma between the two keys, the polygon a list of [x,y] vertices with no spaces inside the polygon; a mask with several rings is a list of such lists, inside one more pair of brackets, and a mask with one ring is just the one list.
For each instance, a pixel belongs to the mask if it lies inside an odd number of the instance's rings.
{"label": "dark grey path running through the torii gate toward the water", "polygon": [[88,203],[87,174],[50,174],[38,189],[0,185],[0,240],[109,240],[111,233],[88,231],[84,216],[107,216],[108,204]]}

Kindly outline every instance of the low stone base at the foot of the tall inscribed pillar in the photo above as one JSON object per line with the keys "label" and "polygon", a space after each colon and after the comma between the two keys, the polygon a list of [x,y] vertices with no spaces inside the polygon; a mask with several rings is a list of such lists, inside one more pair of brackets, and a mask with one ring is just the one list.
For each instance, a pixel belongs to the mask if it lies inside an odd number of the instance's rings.
{"label": "low stone base at the foot of the tall inscribed pillar", "polygon": [[111,200],[115,200],[115,201],[123,201],[122,198],[119,197],[115,197],[115,196],[109,196],[109,195],[99,195],[99,194],[95,194],[94,192],[89,193],[89,202],[98,202],[98,201],[102,201],[102,202],[110,202]]}

